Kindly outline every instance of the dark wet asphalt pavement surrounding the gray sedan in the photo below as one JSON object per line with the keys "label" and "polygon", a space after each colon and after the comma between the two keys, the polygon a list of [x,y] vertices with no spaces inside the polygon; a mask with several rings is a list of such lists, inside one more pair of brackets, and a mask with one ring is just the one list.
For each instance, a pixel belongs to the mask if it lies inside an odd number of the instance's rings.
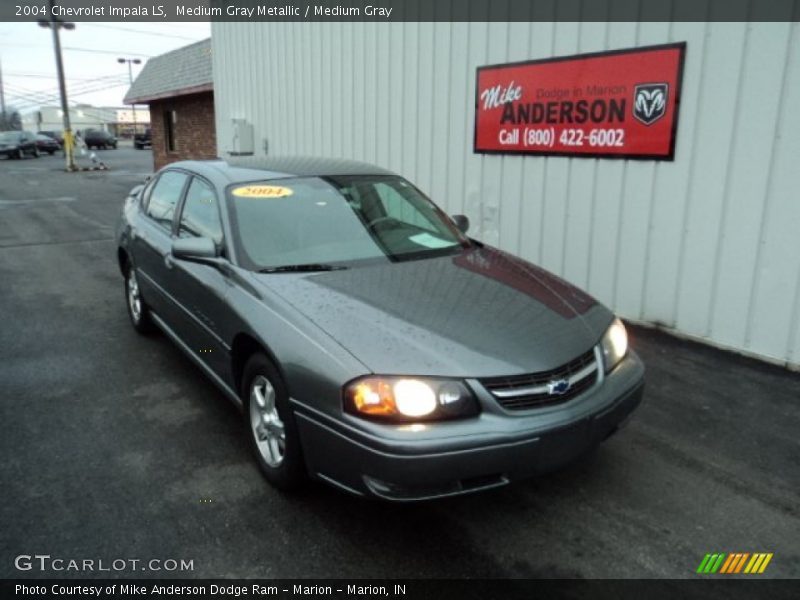
{"label": "dark wet asphalt pavement surrounding the gray sedan", "polygon": [[[191,560],[181,577],[800,577],[800,374],[645,329],[645,401],[567,469],[416,505],[272,489],[243,421],[125,312],[113,228],[150,151],[0,160],[0,577],[15,558]],[[88,161],[84,159],[88,164]],[[96,564],[96,563],[95,563]]]}

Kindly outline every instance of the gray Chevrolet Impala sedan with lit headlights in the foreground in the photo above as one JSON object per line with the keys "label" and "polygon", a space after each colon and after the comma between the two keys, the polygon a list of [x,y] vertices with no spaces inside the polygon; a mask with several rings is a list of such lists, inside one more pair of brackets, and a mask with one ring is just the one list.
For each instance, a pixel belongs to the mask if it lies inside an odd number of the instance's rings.
{"label": "gray Chevrolet Impala sedan with lit headlights in the foreground", "polygon": [[370,165],[178,162],[117,258],[133,326],[242,406],[270,482],[421,500],[557,468],[642,397],[619,319],[467,228]]}

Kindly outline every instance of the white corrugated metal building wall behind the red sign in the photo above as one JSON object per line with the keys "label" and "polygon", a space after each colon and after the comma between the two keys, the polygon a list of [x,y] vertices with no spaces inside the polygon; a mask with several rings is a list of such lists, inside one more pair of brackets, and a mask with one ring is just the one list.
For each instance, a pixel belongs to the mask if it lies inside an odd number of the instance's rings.
{"label": "white corrugated metal building wall behind the red sign", "polygon": [[[686,41],[674,162],[472,152],[479,65]],[[623,317],[800,365],[797,23],[213,23],[220,156],[365,160]]]}

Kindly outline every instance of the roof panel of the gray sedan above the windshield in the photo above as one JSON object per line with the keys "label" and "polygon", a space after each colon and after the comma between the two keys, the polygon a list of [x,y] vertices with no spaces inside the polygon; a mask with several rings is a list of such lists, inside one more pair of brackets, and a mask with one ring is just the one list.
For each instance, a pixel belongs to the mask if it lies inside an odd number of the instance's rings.
{"label": "roof panel of the gray sedan above the windshield", "polygon": [[392,171],[369,163],[312,156],[232,157],[227,160],[181,161],[169,166],[189,169],[200,174],[221,175],[230,183],[285,177],[394,175]]}

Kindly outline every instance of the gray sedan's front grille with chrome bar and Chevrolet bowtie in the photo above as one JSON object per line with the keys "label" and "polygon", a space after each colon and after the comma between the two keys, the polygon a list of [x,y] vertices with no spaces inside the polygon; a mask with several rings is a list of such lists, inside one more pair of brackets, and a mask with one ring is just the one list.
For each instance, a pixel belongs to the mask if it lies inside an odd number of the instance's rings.
{"label": "gray sedan's front grille with chrome bar and Chevrolet bowtie", "polygon": [[[562,404],[585,392],[597,382],[597,360],[594,348],[551,371],[512,377],[489,377],[480,382],[501,406],[509,410],[526,410]],[[550,384],[560,380],[570,383],[566,392],[550,391]]]}

